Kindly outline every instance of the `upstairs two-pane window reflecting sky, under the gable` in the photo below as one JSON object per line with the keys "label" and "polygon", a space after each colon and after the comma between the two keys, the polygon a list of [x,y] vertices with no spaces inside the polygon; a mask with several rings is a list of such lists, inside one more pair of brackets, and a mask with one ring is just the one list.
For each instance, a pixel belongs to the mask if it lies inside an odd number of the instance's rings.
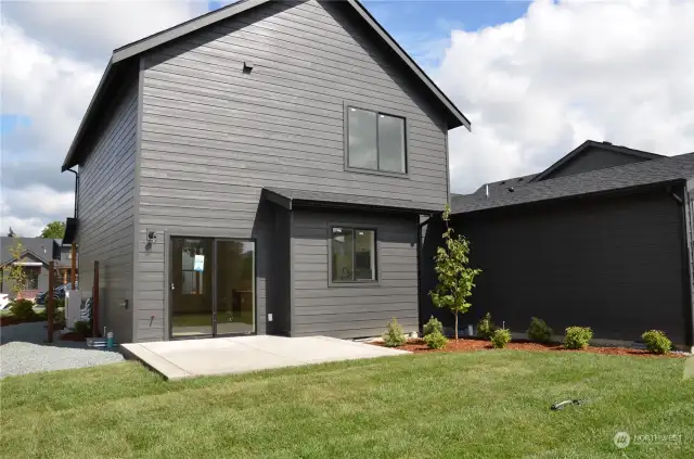
{"label": "upstairs two-pane window reflecting sky, under the gable", "polygon": [[347,136],[349,167],[407,173],[404,118],[348,106]]}

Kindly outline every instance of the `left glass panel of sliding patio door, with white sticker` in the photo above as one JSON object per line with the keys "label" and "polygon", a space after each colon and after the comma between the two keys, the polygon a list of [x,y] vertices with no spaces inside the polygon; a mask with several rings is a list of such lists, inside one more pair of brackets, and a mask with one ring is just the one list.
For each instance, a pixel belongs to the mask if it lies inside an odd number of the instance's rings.
{"label": "left glass panel of sliding patio door, with white sticker", "polygon": [[171,337],[213,334],[213,239],[171,238]]}

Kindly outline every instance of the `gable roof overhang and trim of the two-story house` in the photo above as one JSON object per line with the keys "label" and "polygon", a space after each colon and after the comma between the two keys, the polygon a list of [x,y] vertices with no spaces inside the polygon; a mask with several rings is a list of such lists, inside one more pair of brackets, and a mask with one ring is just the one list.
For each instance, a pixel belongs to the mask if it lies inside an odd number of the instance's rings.
{"label": "gable roof overhang and trim of the two-story house", "polygon": [[[182,24],[114,50],[111,59],[108,60],[108,64],[106,65],[106,69],[99,81],[97,91],[87,107],[85,117],[77,128],[77,133],[75,135],[73,143],[65,156],[65,161],[63,162],[62,170],[65,171],[77,165],[79,161],[77,157],[78,155],[76,154],[78,146],[85,137],[86,131],[88,131],[89,127],[95,122],[95,112],[99,112],[100,109],[105,106],[106,100],[110,99],[106,94],[115,91],[115,86],[117,86],[117,82],[120,79],[119,76],[121,76],[124,72],[123,67],[126,66],[125,64],[129,62],[131,58],[269,1],[271,0],[240,0],[219,10],[203,14],[202,16],[187,21]],[[424,85],[430,95],[439,102],[442,112],[447,113],[449,129],[459,126],[465,126],[468,130],[471,129],[472,125],[467,117],[453,104],[453,102],[450,101],[450,99],[446,97],[446,94],[444,94],[436,84],[432,81],[414,60],[410,58],[410,55],[395,41],[395,39],[383,28],[381,24],[378,24],[378,22],[358,0],[342,0],[340,3],[349,5],[361,21],[377,35],[383,46],[388,51],[397,55],[406,67]]]}

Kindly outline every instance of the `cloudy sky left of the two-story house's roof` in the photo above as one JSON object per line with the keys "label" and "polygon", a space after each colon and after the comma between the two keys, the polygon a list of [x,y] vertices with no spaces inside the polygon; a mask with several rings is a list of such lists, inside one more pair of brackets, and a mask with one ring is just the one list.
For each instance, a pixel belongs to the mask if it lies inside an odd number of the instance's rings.
{"label": "cloudy sky left of the two-story house's roof", "polygon": [[75,178],[60,166],[112,50],[206,11],[178,0],[3,3],[0,109],[25,122],[0,131],[2,234],[37,235],[73,214]]}

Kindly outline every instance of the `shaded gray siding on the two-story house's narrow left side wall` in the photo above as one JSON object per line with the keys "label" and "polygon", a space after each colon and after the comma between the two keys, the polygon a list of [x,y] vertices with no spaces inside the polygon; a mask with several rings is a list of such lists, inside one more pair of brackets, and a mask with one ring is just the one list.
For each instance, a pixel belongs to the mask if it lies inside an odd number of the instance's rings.
{"label": "shaded gray siding on the two-story house's narrow left side wall", "polygon": [[100,263],[101,323],[117,342],[132,340],[132,251],[138,81],[124,88],[79,165],[79,286],[89,297]]}

